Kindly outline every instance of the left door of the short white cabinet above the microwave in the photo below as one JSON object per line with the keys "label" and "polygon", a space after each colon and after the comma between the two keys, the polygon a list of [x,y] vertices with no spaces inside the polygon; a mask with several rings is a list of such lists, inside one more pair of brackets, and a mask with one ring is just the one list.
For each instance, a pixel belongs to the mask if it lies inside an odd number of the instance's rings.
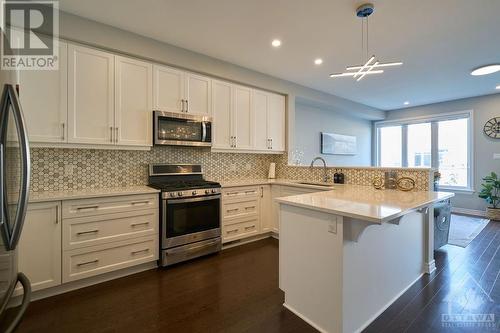
{"label": "left door of the short white cabinet above the microwave", "polygon": [[155,110],[184,112],[184,72],[153,66],[153,104]]}

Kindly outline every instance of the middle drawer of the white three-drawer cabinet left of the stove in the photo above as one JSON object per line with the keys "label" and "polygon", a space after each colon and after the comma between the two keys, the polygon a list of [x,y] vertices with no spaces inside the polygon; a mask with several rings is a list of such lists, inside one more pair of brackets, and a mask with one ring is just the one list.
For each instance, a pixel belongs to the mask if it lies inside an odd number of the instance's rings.
{"label": "middle drawer of the white three-drawer cabinet left of the stove", "polygon": [[158,235],[158,209],[63,220],[63,249]]}

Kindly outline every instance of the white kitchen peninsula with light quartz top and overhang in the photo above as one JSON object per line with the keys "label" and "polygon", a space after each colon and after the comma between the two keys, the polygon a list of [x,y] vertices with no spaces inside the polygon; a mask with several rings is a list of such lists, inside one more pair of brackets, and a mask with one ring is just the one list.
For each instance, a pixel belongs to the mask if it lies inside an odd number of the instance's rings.
{"label": "white kitchen peninsula with light quartz top and overhang", "polygon": [[435,269],[432,205],[452,196],[348,185],[277,198],[284,306],[321,332],[360,332]]}

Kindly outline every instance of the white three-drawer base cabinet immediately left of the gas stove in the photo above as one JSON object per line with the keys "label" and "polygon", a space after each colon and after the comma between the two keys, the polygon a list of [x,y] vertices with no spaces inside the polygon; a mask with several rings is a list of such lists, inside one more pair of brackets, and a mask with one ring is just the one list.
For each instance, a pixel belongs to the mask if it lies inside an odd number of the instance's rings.
{"label": "white three-drawer base cabinet immediately left of the gas stove", "polygon": [[63,202],[63,283],[158,260],[158,195]]}

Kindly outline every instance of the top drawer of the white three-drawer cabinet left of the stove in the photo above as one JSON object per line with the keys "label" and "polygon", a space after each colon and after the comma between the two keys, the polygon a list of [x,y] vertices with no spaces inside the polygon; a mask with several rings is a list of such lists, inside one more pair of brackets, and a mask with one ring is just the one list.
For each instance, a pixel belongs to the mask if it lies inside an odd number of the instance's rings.
{"label": "top drawer of the white three-drawer cabinet left of the stove", "polygon": [[63,201],[63,218],[158,208],[158,194],[123,195]]}

